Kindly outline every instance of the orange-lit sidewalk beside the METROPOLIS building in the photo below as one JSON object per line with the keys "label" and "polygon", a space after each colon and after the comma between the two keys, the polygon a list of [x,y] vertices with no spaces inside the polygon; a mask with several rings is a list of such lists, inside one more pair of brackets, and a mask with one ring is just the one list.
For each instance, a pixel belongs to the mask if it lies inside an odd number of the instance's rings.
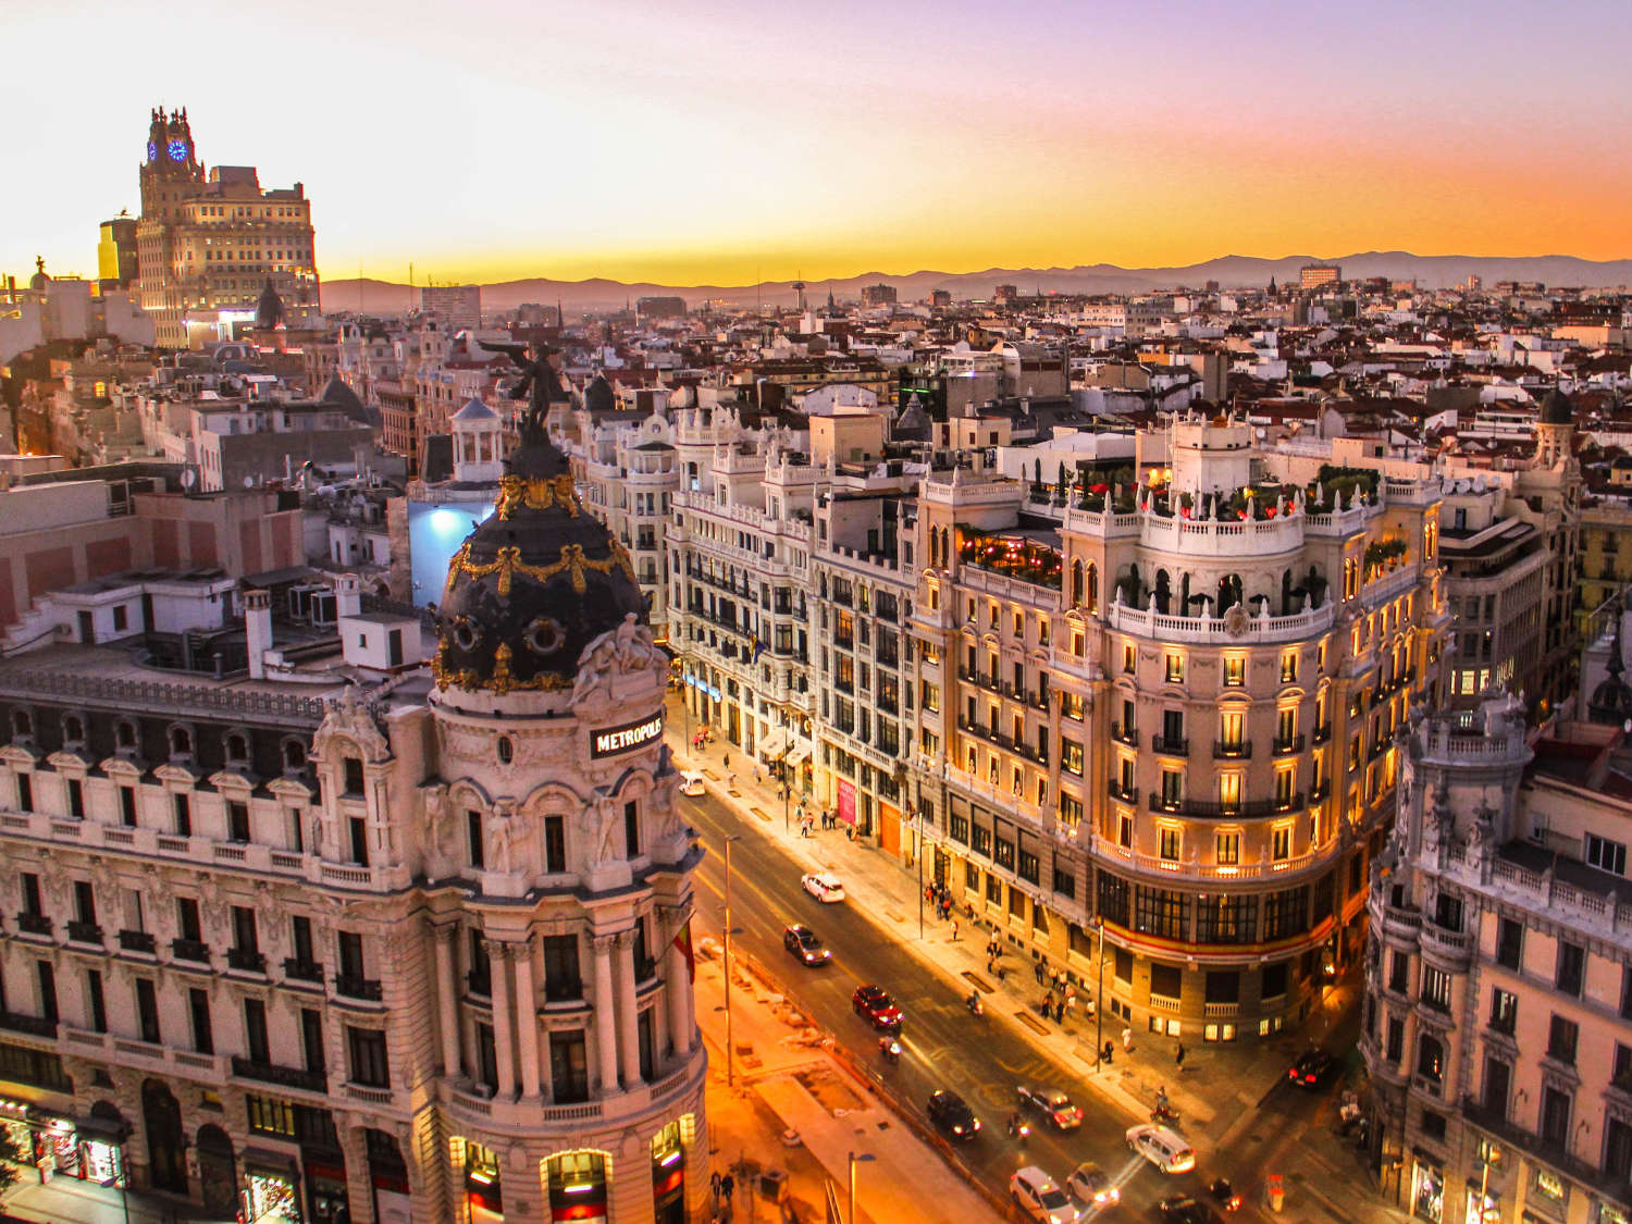
{"label": "orange-lit sidewalk beside the METROPOLIS building", "polygon": [[[710,955],[713,953],[713,955]],[[788,1002],[733,956],[734,1087],[726,1084],[725,966],[710,943],[697,958],[697,1022],[708,1043],[708,1126],[713,1169],[736,1178],[734,1224],[824,1219],[824,1182],[840,1208],[850,1152],[857,1216],[871,1224],[997,1221],[987,1201],[850,1075]],[[796,1136],[796,1138],[795,1138]],[[785,1173],[782,1203],[754,1193],[761,1170]]]}

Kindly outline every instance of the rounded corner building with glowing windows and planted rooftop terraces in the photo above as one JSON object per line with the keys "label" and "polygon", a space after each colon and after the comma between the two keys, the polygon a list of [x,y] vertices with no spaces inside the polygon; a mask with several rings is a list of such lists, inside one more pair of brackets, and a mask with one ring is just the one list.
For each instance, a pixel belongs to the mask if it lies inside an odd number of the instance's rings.
{"label": "rounded corner building with glowing windows and planted rooftop terraces", "polygon": [[1392,738],[1439,698],[1441,490],[1278,483],[1222,418],[1139,444],[1138,486],[922,485],[932,870],[1012,943],[1103,971],[1136,1030],[1271,1036],[1359,953]]}

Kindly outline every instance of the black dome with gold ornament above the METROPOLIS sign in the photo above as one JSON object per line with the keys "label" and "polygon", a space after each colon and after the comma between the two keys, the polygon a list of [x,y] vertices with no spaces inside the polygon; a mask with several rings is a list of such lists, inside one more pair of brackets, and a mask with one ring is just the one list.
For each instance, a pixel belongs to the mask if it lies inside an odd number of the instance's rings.
{"label": "black dome with gold ornament above the METROPOLIS sign", "polygon": [[584,512],[566,457],[524,428],[498,509],[449,561],[437,685],[571,687],[584,646],[628,614],[646,622],[628,552]]}

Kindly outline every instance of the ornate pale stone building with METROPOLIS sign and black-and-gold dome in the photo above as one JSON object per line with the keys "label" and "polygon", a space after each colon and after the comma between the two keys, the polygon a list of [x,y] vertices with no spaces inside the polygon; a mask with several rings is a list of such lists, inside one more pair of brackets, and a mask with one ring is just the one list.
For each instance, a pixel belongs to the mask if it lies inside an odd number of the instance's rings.
{"label": "ornate pale stone building with METROPOLIS sign and black-and-gold dome", "polygon": [[246,672],[160,672],[171,597],[144,596],[75,588],[78,641],[0,661],[24,1151],[251,1221],[698,1219],[667,663],[542,431],[449,568],[429,674],[346,601],[292,648],[253,589]]}

